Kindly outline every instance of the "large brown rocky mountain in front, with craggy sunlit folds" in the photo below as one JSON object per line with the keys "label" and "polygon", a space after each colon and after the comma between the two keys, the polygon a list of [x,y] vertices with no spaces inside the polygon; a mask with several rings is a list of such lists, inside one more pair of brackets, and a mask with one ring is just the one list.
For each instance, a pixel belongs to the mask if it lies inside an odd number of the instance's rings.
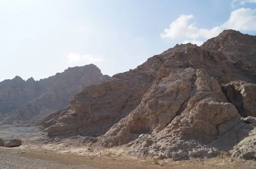
{"label": "large brown rocky mountain in front, with craggy sunlit folds", "polygon": [[201,47],[175,45],[77,93],[39,125],[98,137],[105,147],[173,161],[230,151],[256,158],[255,36],[225,30]]}

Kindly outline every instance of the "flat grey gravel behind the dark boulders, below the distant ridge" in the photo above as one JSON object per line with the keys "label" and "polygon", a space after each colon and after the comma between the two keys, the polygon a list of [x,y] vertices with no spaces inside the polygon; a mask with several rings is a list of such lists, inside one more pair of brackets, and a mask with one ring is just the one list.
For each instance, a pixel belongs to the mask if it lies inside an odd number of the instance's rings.
{"label": "flat grey gravel behind the dark boulders, below the distant ridge", "polygon": [[[39,127],[15,127],[15,125],[0,126],[0,138],[10,140],[15,138],[29,138],[42,135],[44,132]],[[44,133],[46,134],[46,133]]]}

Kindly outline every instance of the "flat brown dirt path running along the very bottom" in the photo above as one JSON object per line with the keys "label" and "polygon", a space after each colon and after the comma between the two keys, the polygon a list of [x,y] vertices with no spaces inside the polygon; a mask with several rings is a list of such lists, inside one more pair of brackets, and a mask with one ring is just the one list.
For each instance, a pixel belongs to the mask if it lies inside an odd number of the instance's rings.
{"label": "flat brown dirt path running along the very bottom", "polygon": [[[196,159],[183,162],[143,161],[119,156],[79,156],[53,150],[0,148],[0,169],[256,169],[254,161],[233,161],[228,158]],[[157,163],[163,163],[160,166]]]}

